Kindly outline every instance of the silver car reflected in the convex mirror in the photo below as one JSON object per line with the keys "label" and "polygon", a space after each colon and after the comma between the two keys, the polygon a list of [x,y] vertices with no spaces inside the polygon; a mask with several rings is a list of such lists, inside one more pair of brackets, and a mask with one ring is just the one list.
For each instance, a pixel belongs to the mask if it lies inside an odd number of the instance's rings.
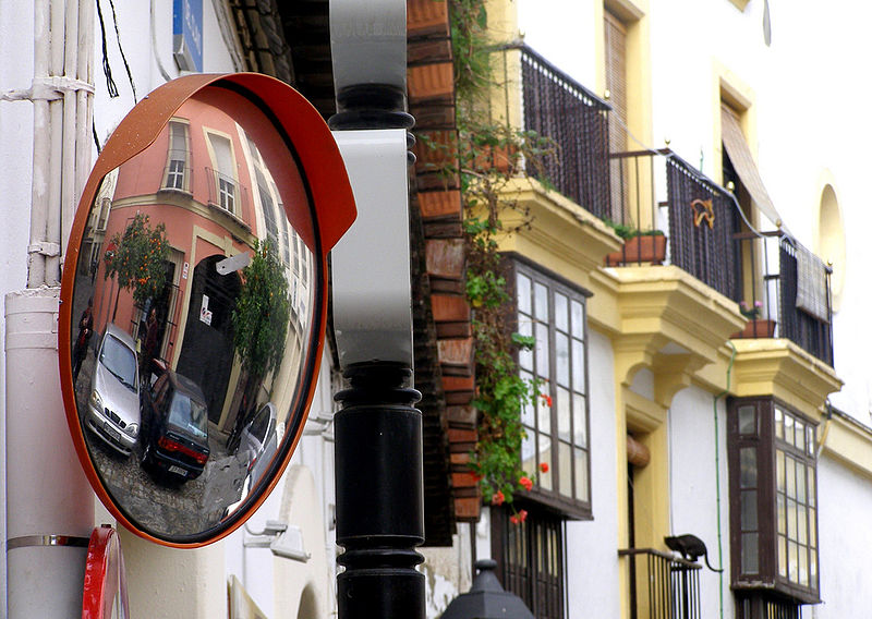
{"label": "silver car reflected in the convex mirror", "polygon": [[136,347],[130,333],[111,323],[97,349],[85,425],[122,456],[130,456],[140,436]]}

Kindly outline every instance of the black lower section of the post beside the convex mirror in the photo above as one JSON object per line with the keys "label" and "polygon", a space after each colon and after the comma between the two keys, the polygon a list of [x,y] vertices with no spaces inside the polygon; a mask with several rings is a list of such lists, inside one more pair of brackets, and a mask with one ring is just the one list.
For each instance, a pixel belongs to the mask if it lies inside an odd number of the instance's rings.
{"label": "black lower section of the post beside the convex mirror", "polygon": [[424,619],[424,482],[421,393],[412,372],[374,362],[344,372],[336,399],[336,537],[341,619]]}

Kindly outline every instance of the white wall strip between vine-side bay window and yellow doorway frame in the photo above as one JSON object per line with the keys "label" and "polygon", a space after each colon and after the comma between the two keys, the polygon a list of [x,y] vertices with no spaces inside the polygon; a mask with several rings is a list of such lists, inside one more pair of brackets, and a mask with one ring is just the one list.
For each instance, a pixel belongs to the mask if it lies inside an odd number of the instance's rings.
{"label": "white wall strip between vine-side bay window and yellow doorway frame", "polygon": [[569,619],[620,615],[614,357],[611,342],[593,329],[588,345],[593,520],[567,523]]}

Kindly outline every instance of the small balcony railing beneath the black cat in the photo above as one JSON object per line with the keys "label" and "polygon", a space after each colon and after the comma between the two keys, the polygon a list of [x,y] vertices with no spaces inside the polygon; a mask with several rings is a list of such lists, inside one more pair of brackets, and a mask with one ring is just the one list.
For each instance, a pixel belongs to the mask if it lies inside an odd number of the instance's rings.
{"label": "small balcony railing beneath the black cat", "polygon": [[702,619],[702,566],[653,548],[618,550],[627,557],[630,619]]}

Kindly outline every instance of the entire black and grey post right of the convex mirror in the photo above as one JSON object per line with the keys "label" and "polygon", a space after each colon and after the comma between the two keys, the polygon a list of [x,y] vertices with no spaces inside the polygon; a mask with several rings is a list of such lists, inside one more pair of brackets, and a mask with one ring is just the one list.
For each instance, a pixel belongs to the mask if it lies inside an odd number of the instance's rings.
{"label": "entire black and grey post right of the convex mirror", "polygon": [[421,398],[412,385],[405,0],[332,0],[329,120],[358,219],[332,252],[334,328],[350,388],[336,399],[342,619],[425,616]]}

